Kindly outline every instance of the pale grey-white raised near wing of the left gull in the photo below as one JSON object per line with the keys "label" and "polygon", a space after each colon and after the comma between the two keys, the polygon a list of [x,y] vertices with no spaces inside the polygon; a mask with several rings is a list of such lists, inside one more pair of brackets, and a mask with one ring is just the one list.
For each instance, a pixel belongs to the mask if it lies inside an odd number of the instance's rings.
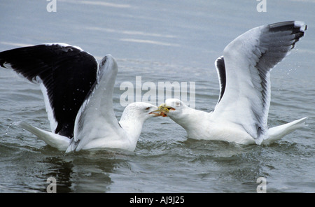
{"label": "pale grey-white raised near wing of the left gull", "polygon": [[113,110],[113,87],[117,73],[115,59],[106,55],[100,63],[97,82],[78,111],[74,138],[66,152],[81,150],[87,144],[92,145],[97,139],[111,141],[123,133]]}

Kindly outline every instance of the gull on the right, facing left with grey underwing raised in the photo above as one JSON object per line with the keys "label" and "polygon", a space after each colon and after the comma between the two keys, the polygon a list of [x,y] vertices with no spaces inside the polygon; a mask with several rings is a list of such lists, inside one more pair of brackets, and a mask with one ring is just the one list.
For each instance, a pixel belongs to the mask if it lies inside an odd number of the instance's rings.
{"label": "gull on the right, facing left with grey underwing raised", "polygon": [[188,138],[268,145],[295,129],[306,126],[307,117],[278,127],[267,127],[270,106],[270,71],[304,36],[300,21],[255,27],[229,43],[215,62],[220,94],[214,110],[204,112],[179,99],[159,106],[186,129]]}

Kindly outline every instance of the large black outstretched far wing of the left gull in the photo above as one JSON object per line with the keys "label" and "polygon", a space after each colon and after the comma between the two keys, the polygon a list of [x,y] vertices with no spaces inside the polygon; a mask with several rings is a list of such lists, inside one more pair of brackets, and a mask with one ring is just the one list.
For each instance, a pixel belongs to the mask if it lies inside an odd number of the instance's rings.
{"label": "large black outstretched far wing of the left gull", "polygon": [[0,65],[31,82],[43,83],[57,124],[52,131],[73,137],[76,114],[97,77],[97,60],[92,55],[75,46],[52,43],[0,52]]}

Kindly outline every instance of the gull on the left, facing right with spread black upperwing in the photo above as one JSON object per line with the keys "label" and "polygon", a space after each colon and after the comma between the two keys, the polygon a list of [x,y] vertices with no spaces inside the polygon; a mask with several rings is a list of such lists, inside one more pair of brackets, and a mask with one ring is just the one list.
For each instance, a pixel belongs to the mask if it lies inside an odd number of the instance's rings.
{"label": "gull on the left, facing right with spread black upperwing", "polygon": [[58,150],[134,151],[144,122],[160,115],[153,112],[157,106],[135,102],[118,122],[113,110],[118,66],[111,55],[98,64],[78,46],[47,43],[0,52],[0,66],[39,83],[51,132],[23,121],[16,124]]}

